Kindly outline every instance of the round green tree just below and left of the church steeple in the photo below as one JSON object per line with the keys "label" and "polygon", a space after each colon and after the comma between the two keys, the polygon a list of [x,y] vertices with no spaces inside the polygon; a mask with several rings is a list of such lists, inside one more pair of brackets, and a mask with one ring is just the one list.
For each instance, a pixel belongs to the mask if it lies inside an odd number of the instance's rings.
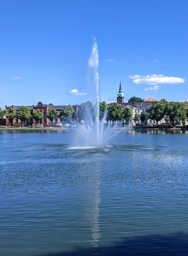
{"label": "round green tree just below and left of the church steeple", "polygon": [[121,108],[121,105],[118,104],[117,102],[111,102],[110,104],[107,105],[107,122],[108,120],[114,122],[117,120],[122,120],[123,119],[123,109]]}

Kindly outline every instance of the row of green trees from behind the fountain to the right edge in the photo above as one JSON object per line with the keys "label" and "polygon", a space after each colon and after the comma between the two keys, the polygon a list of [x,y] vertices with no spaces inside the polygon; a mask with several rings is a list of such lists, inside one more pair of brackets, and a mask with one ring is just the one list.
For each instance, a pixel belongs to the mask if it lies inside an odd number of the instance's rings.
{"label": "row of green trees from behind the fountain to the right edge", "polygon": [[[133,97],[132,97],[133,98]],[[141,99],[141,98],[140,98]],[[91,114],[90,114],[91,113]],[[91,116],[90,116],[91,115]],[[85,103],[81,103],[78,106],[78,120],[95,120],[97,115],[97,104],[92,104],[90,101]],[[141,112],[140,116],[136,113],[134,115],[134,121],[137,122],[141,120],[142,123],[146,122],[148,119],[152,119],[156,121],[158,126],[158,122],[165,118],[165,121],[172,121],[172,125],[174,126],[175,120],[188,119],[188,106],[184,102],[168,102],[166,99],[161,99],[159,101],[153,102],[152,106],[148,108],[147,114]],[[117,121],[117,120],[125,120],[125,123],[128,124],[131,120],[132,112],[129,107],[121,108],[121,105],[112,102],[110,104],[106,104],[105,101],[99,103],[99,119],[105,119],[108,121]],[[92,119],[91,119],[92,118]]]}

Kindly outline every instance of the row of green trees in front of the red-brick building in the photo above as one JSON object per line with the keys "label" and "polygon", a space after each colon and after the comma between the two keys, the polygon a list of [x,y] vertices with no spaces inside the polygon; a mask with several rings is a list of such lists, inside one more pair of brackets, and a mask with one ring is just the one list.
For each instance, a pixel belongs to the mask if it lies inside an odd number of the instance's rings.
{"label": "row of green trees in front of the red-brick building", "polygon": [[[69,104],[66,108],[61,110],[59,115],[56,109],[49,109],[45,115],[51,123],[57,117],[62,118],[65,122],[67,122],[73,118],[73,113],[74,108]],[[40,109],[34,110],[33,114],[31,115],[30,109],[27,106],[20,106],[18,111],[12,107],[8,108],[7,110],[0,108],[0,119],[2,119],[4,115],[6,115],[11,123],[14,118],[18,118],[23,123],[26,123],[26,120],[29,118],[33,118],[36,123],[43,119],[43,113],[40,111]]]}

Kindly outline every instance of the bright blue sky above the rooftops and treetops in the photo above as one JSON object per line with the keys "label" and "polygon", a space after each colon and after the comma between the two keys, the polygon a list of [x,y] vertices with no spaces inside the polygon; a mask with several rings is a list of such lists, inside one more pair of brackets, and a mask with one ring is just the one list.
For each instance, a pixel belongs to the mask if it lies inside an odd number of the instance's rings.
{"label": "bright blue sky above the rooftops and treetops", "polygon": [[1,1],[0,106],[87,101],[93,35],[100,99],[116,100],[120,79],[125,100],[188,99],[187,8],[186,0]]}

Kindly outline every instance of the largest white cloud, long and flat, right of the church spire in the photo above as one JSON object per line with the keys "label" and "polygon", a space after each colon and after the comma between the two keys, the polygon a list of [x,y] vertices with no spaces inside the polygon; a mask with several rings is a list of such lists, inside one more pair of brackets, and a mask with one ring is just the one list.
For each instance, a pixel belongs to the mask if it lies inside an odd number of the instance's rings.
{"label": "largest white cloud, long and flat, right of the church spire", "polygon": [[167,83],[167,84],[178,84],[178,83],[184,83],[185,79],[180,78],[180,77],[167,77],[164,75],[148,75],[148,76],[141,76],[141,75],[134,75],[134,76],[129,76],[130,79],[133,79],[133,83],[136,84],[162,84],[162,83]]}

